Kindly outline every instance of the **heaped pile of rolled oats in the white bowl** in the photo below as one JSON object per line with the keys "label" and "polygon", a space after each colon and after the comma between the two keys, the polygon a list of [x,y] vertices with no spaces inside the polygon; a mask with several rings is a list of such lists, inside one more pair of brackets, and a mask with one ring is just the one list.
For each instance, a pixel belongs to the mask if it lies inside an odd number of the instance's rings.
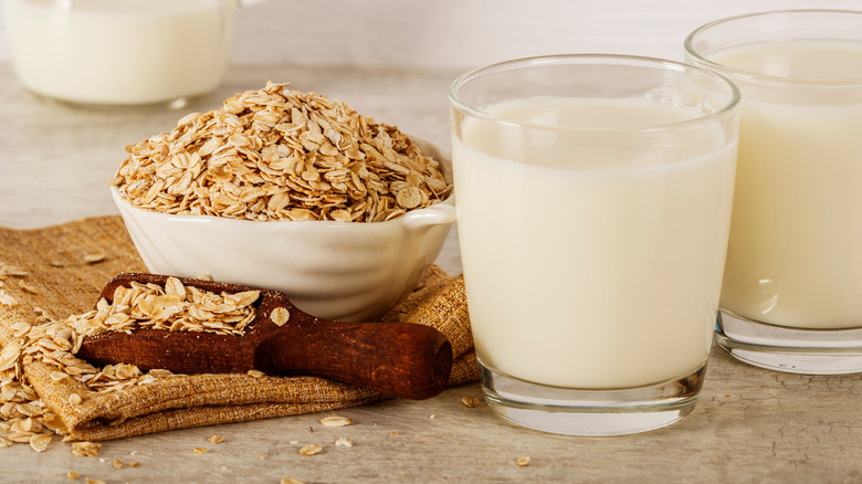
{"label": "heaped pile of rolled oats in the white bowl", "polygon": [[439,162],[347,104],[267,83],[126,147],[132,206],[257,221],[379,222],[445,199]]}

